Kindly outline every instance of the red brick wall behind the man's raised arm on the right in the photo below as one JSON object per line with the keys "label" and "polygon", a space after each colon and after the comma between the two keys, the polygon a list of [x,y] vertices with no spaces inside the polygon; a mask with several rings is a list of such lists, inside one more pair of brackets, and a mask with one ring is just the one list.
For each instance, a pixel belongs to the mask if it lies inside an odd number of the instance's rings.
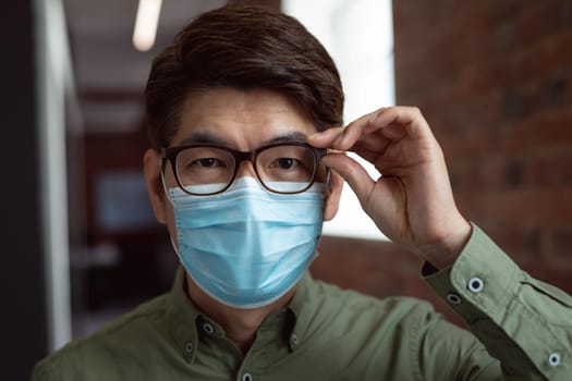
{"label": "red brick wall behind the man's raised arm on the right", "polygon": [[[400,0],[393,17],[397,102],[431,125],[460,209],[571,293],[572,2]],[[434,299],[393,246],[326,238],[322,251],[318,278]]]}

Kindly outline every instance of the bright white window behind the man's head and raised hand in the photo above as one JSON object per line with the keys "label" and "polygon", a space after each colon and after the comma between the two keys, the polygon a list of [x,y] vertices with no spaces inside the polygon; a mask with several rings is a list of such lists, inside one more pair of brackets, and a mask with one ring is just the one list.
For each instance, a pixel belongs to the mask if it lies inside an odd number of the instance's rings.
{"label": "bright white window behind the man's head and raised hand", "polygon": [[[332,56],[345,93],[345,123],[394,105],[393,23],[390,0],[282,0]],[[361,161],[361,160],[360,160]],[[373,177],[378,172],[361,161]],[[344,186],[338,216],[324,234],[385,239]]]}

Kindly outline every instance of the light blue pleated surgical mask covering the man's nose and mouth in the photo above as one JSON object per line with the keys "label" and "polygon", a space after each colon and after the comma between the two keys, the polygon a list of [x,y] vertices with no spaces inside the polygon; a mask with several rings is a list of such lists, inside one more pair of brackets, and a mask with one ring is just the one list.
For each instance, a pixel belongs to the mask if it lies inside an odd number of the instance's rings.
{"label": "light blue pleated surgical mask covering the man's nose and mouth", "polygon": [[216,300],[236,308],[269,305],[316,257],[324,196],[324,184],[280,195],[254,177],[236,179],[212,196],[170,188],[175,250],[193,281]]}

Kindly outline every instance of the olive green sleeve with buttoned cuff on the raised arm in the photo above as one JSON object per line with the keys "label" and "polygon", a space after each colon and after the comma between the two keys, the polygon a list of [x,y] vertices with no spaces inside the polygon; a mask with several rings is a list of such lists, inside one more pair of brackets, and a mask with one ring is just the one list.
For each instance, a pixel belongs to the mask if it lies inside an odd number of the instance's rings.
{"label": "olive green sleeve with buttoned cuff on the raised arm", "polygon": [[452,267],[424,279],[507,379],[572,380],[572,297],[522,271],[478,226]]}

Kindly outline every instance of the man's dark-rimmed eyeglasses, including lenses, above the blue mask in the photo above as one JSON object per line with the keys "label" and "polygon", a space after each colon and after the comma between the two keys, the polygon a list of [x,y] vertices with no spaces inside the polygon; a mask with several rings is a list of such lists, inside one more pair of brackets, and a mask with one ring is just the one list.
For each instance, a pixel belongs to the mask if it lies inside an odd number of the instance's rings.
{"label": "man's dark-rimmed eyeglasses, including lenses, above the blue mask", "polygon": [[190,145],[161,149],[161,170],[166,161],[179,187],[195,196],[222,193],[230,187],[240,163],[248,160],[260,184],[278,194],[296,194],[307,190],[318,173],[319,161],[326,149],[305,143],[277,143],[252,151],[211,145]]}

